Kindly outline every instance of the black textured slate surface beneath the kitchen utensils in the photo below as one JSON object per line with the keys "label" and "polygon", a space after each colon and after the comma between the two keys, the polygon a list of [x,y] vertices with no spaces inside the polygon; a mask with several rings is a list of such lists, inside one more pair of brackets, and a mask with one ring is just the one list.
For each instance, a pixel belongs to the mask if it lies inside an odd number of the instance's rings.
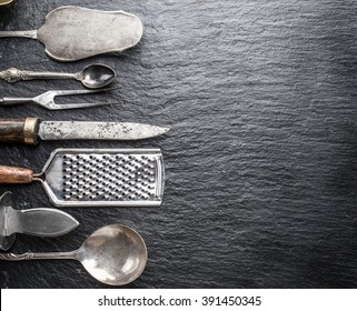
{"label": "black textured slate surface beneath the kitchen utensils", "polygon": [[[58,63],[43,46],[1,39],[1,69],[76,72],[102,62],[118,90],[88,100],[118,104],[2,117],[119,120],[169,126],[130,143],[43,142],[0,147],[1,163],[40,171],[60,147],[161,148],[160,208],[66,209],[81,225],[56,239],[18,235],[12,252],[77,249],[121,222],[145,239],[149,261],[128,288],[355,288],[357,285],[357,2],[16,0],[1,30],[38,29],[63,4],[121,9],[145,26],[119,56]],[[0,82],[3,96],[76,89],[73,81]],[[82,98],[85,99],[85,98]],[[11,190],[18,208],[50,207],[41,185]],[[0,262],[1,288],[106,288],[75,261]]]}

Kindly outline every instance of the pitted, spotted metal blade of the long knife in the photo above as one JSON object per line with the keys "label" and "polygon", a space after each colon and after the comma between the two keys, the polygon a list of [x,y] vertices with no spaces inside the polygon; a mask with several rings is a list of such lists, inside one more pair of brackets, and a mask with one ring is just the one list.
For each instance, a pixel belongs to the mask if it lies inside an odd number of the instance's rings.
{"label": "pitted, spotted metal blade of the long knife", "polygon": [[168,128],[131,122],[41,121],[41,140],[138,140],[163,134]]}

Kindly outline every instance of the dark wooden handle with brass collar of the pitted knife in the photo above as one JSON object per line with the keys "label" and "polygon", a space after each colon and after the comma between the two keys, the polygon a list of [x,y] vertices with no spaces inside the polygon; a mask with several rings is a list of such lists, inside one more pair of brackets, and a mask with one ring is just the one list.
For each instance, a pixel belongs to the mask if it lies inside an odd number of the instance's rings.
{"label": "dark wooden handle with brass collar of the pitted knife", "polygon": [[39,124],[37,118],[0,119],[0,142],[37,144]]}

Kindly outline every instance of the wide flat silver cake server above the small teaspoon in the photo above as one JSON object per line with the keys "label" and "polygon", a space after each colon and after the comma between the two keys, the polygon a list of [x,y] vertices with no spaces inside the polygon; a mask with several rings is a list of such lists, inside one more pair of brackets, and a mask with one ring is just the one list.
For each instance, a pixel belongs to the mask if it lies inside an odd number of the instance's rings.
{"label": "wide flat silver cake server above the small teaspoon", "polygon": [[141,36],[141,21],[133,14],[75,6],[52,10],[39,30],[0,32],[0,38],[38,39],[44,44],[46,53],[58,61],[121,52],[136,46]]}

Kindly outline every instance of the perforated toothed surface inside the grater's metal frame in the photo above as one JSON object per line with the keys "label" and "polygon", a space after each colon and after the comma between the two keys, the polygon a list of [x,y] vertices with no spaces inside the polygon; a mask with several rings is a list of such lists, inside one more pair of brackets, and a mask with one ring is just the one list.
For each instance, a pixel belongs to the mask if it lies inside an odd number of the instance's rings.
{"label": "perforated toothed surface inside the grater's metal frame", "polygon": [[156,197],[155,159],[137,154],[63,154],[66,201],[136,201]]}

